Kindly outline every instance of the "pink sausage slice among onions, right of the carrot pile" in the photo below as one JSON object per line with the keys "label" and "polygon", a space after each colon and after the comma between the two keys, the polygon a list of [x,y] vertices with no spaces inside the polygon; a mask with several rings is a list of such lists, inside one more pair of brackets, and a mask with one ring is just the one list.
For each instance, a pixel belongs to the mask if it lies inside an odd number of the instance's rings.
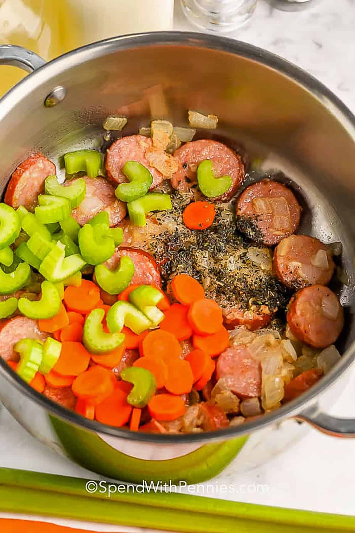
{"label": "pink sausage slice among onions, right of the carrot pile", "polygon": [[225,378],[228,389],[240,398],[261,394],[260,362],[251,357],[245,344],[230,346],[221,353],[216,365],[217,381]]}

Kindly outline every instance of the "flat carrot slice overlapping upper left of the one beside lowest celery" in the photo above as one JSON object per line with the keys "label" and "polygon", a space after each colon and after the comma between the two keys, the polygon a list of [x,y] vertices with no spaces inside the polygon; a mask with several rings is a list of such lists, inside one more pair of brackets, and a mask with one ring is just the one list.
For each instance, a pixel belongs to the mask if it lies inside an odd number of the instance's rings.
{"label": "flat carrot slice overlapping upper left of the one beside lowest celery", "polygon": [[83,400],[90,400],[102,397],[105,394],[111,394],[113,391],[113,381],[107,368],[102,366],[93,366],[76,377],[72,384],[72,391]]}

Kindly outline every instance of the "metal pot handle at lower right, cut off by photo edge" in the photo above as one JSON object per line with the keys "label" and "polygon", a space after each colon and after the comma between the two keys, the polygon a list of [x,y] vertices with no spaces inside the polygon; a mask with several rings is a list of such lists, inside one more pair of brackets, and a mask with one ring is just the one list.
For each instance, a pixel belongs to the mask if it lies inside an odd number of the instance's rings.
{"label": "metal pot handle at lower right, cut off by photo edge", "polygon": [[315,429],[332,435],[333,437],[355,438],[355,419],[336,418],[335,416],[319,413],[317,405],[304,409],[295,418],[302,422],[308,422]]}

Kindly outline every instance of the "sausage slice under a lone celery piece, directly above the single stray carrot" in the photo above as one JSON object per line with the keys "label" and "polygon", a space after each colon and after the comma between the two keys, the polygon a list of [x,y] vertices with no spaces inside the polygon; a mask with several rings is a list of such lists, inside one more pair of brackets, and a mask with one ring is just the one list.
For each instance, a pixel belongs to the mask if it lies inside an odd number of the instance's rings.
{"label": "sausage slice under a lone celery piece, directly above the single stray carrot", "polygon": [[171,185],[180,191],[188,191],[196,182],[197,167],[205,159],[213,163],[214,176],[230,176],[233,183],[224,195],[212,200],[228,200],[232,198],[244,179],[242,158],[225,144],[209,139],[187,142],[174,152],[180,161],[178,171],[171,178]]}

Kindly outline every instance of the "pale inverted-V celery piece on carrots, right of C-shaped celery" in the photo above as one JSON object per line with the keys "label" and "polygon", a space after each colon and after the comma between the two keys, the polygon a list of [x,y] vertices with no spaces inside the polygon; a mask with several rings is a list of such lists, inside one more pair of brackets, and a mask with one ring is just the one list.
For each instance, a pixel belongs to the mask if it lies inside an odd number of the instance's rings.
{"label": "pale inverted-V celery piece on carrots, right of C-shaped celery", "polygon": [[127,326],[137,335],[152,327],[152,322],[134,305],[125,301],[115,302],[108,310],[106,322],[111,333],[119,333]]}

